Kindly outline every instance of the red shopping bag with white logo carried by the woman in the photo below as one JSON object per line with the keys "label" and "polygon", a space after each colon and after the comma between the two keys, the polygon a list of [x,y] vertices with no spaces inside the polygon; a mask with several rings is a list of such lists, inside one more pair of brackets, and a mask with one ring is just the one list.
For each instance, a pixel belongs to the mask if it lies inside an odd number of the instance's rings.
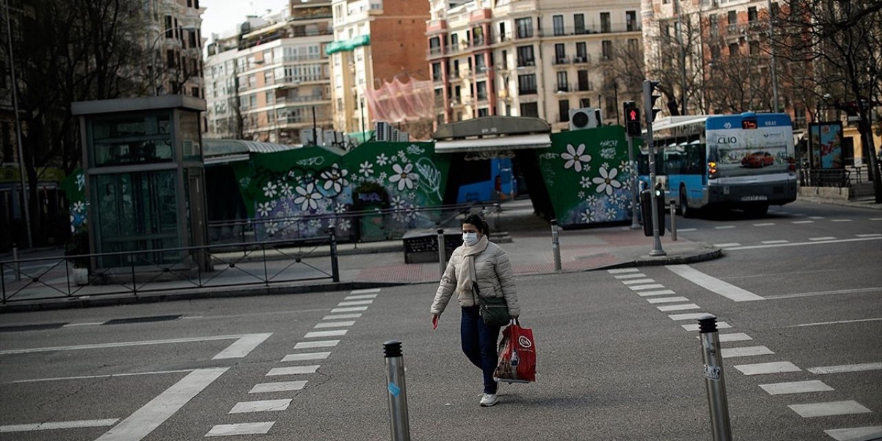
{"label": "red shopping bag with white logo carried by the woman", "polygon": [[493,378],[506,383],[530,383],[536,381],[536,345],[533,330],[520,326],[512,320],[502,330],[499,341],[499,363]]}

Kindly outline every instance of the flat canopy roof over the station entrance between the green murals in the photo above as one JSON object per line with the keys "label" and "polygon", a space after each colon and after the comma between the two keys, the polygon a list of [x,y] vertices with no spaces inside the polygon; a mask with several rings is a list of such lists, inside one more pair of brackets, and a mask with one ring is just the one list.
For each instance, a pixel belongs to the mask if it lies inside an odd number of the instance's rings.
{"label": "flat canopy roof over the station entrance between the green murals", "polygon": [[551,127],[539,118],[484,116],[445,124],[432,138],[437,153],[548,148]]}

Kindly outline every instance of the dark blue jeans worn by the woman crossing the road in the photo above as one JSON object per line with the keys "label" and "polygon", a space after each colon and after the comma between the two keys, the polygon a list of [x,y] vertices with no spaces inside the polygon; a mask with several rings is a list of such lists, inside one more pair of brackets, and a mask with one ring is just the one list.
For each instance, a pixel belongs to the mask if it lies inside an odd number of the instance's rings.
{"label": "dark blue jeans worn by the woman crossing the road", "polygon": [[484,393],[496,393],[497,382],[493,380],[493,371],[498,363],[497,341],[500,326],[484,325],[484,320],[477,306],[462,308],[460,334],[462,336],[462,352],[468,361],[481,368],[484,372]]}

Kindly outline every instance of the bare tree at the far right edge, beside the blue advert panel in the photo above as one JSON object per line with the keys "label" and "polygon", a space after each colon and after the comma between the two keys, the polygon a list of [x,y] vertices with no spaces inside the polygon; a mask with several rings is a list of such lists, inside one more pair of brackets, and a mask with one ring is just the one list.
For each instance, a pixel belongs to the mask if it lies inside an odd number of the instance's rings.
{"label": "bare tree at the far right edge, beside the blue advert panel", "polygon": [[871,126],[873,110],[882,105],[882,2],[781,0],[773,41],[782,57],[807,68],[803,77],[789,78],[806,96],[858,117],[876,202],[882,203]]}

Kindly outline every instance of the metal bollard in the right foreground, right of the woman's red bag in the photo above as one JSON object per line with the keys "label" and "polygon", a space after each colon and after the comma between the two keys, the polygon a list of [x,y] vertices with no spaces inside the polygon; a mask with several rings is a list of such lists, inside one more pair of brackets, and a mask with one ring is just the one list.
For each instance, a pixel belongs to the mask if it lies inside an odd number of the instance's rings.
{"label": "metal bollard in the right foreground, right of the woman's red bag", "polygon": [[717,335],[716,317],[708,314],[699,318],[699,336],[703,349],[707,405],[710,407],[714,441],[731,441],[729,402],[726,399],[726,378],[723,377],[722,372],[722,353],[720,337]]}

